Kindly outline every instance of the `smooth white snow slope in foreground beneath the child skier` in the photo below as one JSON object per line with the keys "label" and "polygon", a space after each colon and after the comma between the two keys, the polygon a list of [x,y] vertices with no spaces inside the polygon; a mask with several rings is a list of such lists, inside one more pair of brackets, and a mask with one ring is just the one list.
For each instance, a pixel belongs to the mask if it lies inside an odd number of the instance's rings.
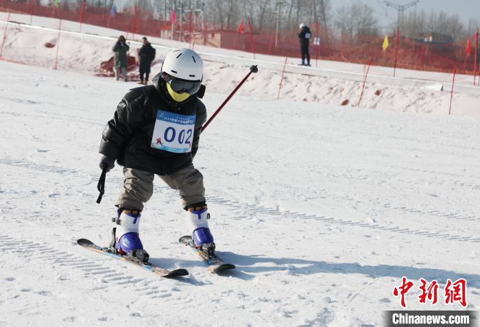
{"label": "smooth white snow slope in foreground beneath the child skier", "polygon": [[[1,326],[383,326],[402,276],[466,278],[480,305],[478,120],[235,96],[194,163],[237,269],[209,274],[178,244],[184,211],[156,179],[141,237],[154,263],[190,271],[167,280],[75,244],[109,242],[123,177],[95,203],[97,149],[137,85],[0,71]],[[209,114],[224,97],[207,92]],[[407,308],[461,309],[419,292]]]}

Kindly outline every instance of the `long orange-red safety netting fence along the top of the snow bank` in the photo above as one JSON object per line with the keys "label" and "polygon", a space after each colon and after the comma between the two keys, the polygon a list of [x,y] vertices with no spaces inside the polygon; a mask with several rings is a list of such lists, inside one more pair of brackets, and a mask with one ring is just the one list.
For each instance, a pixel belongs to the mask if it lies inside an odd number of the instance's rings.
{"label": "long orange-red safety netting fence along the top of the snow bank", "polygon": [[[39,5],[36,0],[11,1],[0,0],[0,10],[47,16],[52,18],[77,21],[110,27],[137,36],[156,36],[182,40],[186,42],[211,45],[226,49],[237,49],[254,53],[264,53],[283,57],[300,57],[300,44],[298,30],[281,29],[278,34],[275,29],[259,29],[245,21],[242,26],[243,33],[237,29],[222,29],[207,21],[194,21],[195,17],[184,15],[176,19],[173,28],[171,21],[154,19],[152,13],[142,12],[134,8],[123,8],[123,12],[110,14],[110,8],[98,8],[92,5],[78,5],[77,3],[63,3],[60,1],[58,8],[54,5]],[[52,1],[53,2],[53,1]],[[80,7],[80,8],[79,8]],[[310,56],[324,60],[355,62],[379,66],[394,66],[396,36],[388,36],[389,47],[382,50],[384,36],[357,36],[348,42],[342,42],[318,25],[311,25],[313,37],[320,36],[320,51],[317,45],[310,43]],[[173,35],[172,35],[173,32]],[[327,36],[329,36],[327,38]],[[403,36],[400,32],[398,42],[398,61],[396,67],[418,69],[425,71],[451,72],[457,67],[461,73],[473,74],[475,53],[475,36],[470,36],[471,51],[466,56],[467,40],[458,43],[432,43],[415,40]],[[319,53],[320,52],[320,53]],[[480,53],[477,54],[477,65]]]}

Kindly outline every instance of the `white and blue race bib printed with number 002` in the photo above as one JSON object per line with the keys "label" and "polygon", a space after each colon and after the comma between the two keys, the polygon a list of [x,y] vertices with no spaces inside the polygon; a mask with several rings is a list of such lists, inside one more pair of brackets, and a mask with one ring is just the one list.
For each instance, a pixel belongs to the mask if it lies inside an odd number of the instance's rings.
{"label": "white and blue race bib printed with number 002", "polygon": [[176,154],[191,152],[195,118],[195,115],[186,116],[158,110],[152,147]]}

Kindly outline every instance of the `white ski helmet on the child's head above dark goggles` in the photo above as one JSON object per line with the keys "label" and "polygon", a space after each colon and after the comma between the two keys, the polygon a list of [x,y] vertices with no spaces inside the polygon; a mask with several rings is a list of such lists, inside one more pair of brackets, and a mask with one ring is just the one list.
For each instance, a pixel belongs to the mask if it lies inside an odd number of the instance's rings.
{"label": "white ski helmet on the child's head above dark goggles", "polygon": [[195,51],[187,48],[170,51],[163,60],[162,73],[187,81],[202,81],[204,63]]}

